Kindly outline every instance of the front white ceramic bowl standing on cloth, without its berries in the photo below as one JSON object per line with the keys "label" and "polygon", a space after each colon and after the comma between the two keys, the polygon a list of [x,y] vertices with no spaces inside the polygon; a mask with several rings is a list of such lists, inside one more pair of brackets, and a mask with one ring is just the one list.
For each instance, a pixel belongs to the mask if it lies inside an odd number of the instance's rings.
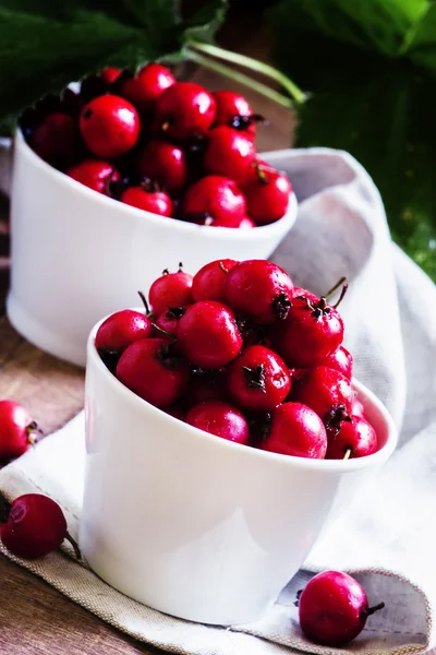
{"label": "front white ceramic bowl standing on cloth, without its berries", "polygon": [[290,457],[199,431],[153,407],[105,367],[90,333],[80,546],[110,585],[169,615],[257,619],[350,491],[392,453],[387,409],[354,382],[380,449],[358,460]]}

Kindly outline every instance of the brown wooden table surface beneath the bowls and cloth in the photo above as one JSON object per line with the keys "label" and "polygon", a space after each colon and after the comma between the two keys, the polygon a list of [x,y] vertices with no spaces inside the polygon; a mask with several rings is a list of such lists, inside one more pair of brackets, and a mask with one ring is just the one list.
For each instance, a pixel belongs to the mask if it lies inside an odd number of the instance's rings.
{"label": "brown wooden table surface beneath the bowls and cloth", "polygon": [[[266,58],[263,27],[255,21],[253,29],[247,28],[246,17],[243,28],[238,21],[230,25],[226,45]],[[209,88],[238,90],[234,84],[205,70],[196,71],[194,76]],[[268,128],[259,130],[258,150],[288,146],[293,122],[290,112],[257,94],[247,93],[246,88],[239,91],[252,100],[255,111],[270,120]],[[25,405],[48,434],[82,409],[84,371],[35,348],[8,322],[4,313],[9,284],[8,216],[8,201],[0,196],[0,398],[13,398]],[[1,556],[0,580],[0,653],[133,655],[156,652],[107,626]]]}

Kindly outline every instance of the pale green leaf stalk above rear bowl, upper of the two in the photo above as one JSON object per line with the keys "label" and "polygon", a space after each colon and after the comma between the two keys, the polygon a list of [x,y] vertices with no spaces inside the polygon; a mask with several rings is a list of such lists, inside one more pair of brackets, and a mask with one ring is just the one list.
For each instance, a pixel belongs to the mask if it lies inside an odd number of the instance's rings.
{"label": "pale green leaf stalk above rear bowl, upper of the two", "polygon": [[[209,55],[210,57],[223,59],[225,61],[229,61],[230,63],[235,63],[243,68],[247,68],[249,70],[255,71],[256,73],[261,73],[263,75],[266,75],[267,78],[270,78],[271,80],[275,80],[289,93],[291,98],[293,98],[294,103],[296,103],[298,105],[303,104],[307,99],[307,95],[301,88],[299,88],[299,86],[296,86],[296,84],[294,84],[292,80],[287,78],[287,75],[283,75],[283,73],[280,73],[280,71],[275,69],[272,66],[258,61],[257,59],[253,59],[252,57],[246,57],[246,55],[238,55],[237,52],[230,52],[229,50],[218,48],[217,46],[213,46],[210,44],[203,44],[195,40],[189,40],[187,46],[190,48],[195,48],[195,50],[199,50],[205,55]],[[232,71],[232,76],[233,79],[235,79],[234,71]]]}

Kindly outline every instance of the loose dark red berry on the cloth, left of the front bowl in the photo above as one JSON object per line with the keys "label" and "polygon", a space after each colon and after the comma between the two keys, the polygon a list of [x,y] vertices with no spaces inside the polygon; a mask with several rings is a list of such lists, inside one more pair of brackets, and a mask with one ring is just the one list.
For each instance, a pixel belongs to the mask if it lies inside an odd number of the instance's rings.
{"label": "loose dark red berry on the cloth, left of the front bowl", "polygon": [[57,502],[41,493],[25,493],[12,502],[0,525],[3,546],[23,559],[37,559],[59,548],[68,537],[65,516]]}

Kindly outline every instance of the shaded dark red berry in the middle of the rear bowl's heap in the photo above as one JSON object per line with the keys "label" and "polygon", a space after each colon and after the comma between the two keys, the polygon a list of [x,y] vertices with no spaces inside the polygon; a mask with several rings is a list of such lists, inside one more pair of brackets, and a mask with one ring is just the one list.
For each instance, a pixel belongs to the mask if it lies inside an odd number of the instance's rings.
{"label": "shaded dark red berry in the middle of the rear bowl's heap", "polygon": [[178,193],[187,181],[186,158],[183,151],[165,141],[150,141],[142,151],[136,169],[142,177],[158,182],[169,193]]}

